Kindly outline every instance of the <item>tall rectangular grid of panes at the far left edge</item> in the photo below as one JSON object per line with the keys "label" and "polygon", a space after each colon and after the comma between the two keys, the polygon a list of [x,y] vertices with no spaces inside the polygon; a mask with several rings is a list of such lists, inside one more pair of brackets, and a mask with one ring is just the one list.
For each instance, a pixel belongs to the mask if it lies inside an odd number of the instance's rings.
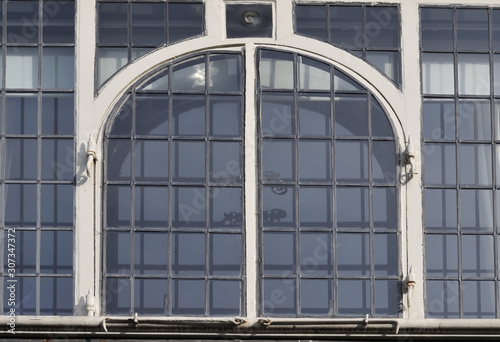
{"label": "tall rectangular grid of panes at the far left edge", "polygon": [[0,13],[3,310],[71,315],[75,3],[0,1]]}

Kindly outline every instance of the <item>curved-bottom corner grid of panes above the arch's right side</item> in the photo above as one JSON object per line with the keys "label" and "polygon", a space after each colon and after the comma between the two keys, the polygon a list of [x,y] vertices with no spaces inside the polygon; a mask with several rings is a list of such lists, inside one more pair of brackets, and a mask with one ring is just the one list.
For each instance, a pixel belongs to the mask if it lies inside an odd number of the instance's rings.
{"label": "curved-bottom corner grid of panes above the arch's right side", "polygon": [[398,6],[300,4],[295,30],[363,58],[401,85]]}

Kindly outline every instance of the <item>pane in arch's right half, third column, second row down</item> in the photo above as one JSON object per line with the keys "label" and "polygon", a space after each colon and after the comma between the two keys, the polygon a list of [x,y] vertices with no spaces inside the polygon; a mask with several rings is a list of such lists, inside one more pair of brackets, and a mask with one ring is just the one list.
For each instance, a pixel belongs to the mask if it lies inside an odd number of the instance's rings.
{"label": "pane in arch's right half, third column, second row down", "polygon": [[335,136],[368,136],[368,101],[366,95],[335,96]]}

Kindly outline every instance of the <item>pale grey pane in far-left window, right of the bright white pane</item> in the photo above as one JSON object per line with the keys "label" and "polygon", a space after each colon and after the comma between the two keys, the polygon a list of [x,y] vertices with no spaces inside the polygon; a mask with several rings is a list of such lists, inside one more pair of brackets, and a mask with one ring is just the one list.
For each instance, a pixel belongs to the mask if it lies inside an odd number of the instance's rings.
{"label": "pale grey pane in far-left window, right of the bright white pane", "polygon": [[42,88],[75,87],[75,51],[72,47],[44,47],[42,54]]}

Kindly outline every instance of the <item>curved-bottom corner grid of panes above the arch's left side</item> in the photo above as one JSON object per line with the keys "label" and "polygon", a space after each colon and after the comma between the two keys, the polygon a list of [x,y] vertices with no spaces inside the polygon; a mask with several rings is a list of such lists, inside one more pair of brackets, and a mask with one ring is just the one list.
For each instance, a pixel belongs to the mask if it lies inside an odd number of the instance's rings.
{"label": "curved-bottom corner grid of panes above the arch's left side", "polygon": [[99,0],[97,15],[97,86],[153,49],[204,32],[201,1]]}

